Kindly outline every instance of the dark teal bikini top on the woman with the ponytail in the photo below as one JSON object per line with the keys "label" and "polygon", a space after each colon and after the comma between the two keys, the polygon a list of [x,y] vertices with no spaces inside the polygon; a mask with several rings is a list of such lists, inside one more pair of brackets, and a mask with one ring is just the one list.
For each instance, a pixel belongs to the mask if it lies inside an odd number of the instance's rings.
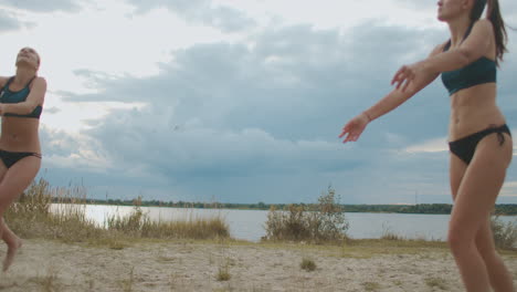
{"label": "dark teal bikini top on the woman with the ponytail", "polygon": [[[471,33],[472,25],[465,33],[463,40]],[[451,40],[445,44],[443,51],[451,48]],[[449,95],[478,84],[492,83],[497,80],[497,64],[494,60],[482,56],[471,64],[454,71],[442,73],[443,85],[449,91]]]}

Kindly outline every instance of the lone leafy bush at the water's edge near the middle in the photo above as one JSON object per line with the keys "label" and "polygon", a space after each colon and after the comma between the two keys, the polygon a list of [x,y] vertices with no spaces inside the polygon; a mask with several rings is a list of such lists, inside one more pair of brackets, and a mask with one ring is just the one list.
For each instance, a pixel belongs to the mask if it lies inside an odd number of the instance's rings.
{"label": "lone leafy bush at the water's edge near the middle", "polygon": [[349,225],[338,204],[336,191],[328,187],[315,205],[289,205],[287,209],[272,207],[267,213],[266,240],[341,242]]}

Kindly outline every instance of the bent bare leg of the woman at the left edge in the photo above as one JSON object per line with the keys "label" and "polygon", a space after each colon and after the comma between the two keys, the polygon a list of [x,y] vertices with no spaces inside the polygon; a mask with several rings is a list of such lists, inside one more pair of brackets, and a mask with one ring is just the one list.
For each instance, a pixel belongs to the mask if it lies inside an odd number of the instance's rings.
{"label": "bent bare leg of the woman at the left edge", "polygon": [[[3,220],[3,213],[12,201],[32,182],[41,165],[41,158],[29,156],[20,159],[6,170],[0,180],[0,232],[1,238],[8,244],[8,252],[3,261],[3,271],[11,265],[17,250],[21,247],[21,240]],[[3,166],[3,165],[2,165]]]}

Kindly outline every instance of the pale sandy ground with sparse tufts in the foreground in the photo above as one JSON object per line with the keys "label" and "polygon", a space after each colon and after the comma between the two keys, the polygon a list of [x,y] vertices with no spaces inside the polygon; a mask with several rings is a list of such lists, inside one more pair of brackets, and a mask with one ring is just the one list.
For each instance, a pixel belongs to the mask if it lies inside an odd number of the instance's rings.
{"label": "pale sandy ground with sparse tufts in the foreground", "polygon": [[[3,257],[6,249],[0,249]],[[25,240],[0,291],[463,291],[445,249],[137,242],[122,250]],[[317,268],[300,269],[303,258]],[[517,285],[517,252],[504,259]],[[228,268],[229,281],[218,281]]]}

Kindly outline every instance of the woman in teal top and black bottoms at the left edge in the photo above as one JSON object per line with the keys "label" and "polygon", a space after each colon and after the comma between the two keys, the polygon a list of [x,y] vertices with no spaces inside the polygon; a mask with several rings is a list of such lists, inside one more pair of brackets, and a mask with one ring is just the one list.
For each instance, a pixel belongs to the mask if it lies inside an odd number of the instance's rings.
{"label": "woman in teal top and black bottoms at the left edge", "polygon": [[38,128],[46,92],[45,80],[36,75],[40,55],[33,49],[23,48],[15,65],[14,76],[0,77],[0,234],[8,246],[3,271],[21,247],[21,239],[6,225],[3,213],[40,169]]}

